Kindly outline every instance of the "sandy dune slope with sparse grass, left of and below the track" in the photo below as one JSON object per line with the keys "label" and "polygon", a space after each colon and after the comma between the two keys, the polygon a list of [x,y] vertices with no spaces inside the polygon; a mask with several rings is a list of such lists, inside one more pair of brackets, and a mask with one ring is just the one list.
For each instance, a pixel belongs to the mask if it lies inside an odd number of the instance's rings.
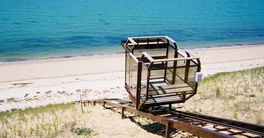
{"label": "sandy dune slope with sparse grass, left of and below the track", "polygon": [[139,119],[122,120],[119,109],[83,109],[84,113],[80,104],[67,103],[1,112],[0,137],[163,137],[149,133],[150,125]]}

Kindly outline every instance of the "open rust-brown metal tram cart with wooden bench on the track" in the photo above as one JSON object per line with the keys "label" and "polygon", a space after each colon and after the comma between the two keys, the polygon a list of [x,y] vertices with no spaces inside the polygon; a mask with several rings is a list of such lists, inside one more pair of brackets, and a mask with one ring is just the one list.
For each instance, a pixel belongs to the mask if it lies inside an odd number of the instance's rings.
{"label": "open rust-brown metal tram cart with wooden bench on the track", "polygon": [[[199,58],[168,36],[128,37],[125,88],[137,109],[182,103],[196,94]],[[199,75],[201,77],[201,74]]]}

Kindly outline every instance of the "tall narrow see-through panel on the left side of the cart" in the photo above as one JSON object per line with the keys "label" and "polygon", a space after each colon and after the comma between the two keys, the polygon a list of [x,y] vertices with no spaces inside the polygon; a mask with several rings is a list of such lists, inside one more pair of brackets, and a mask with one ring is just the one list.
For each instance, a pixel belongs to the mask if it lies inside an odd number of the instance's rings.
{"label": "tall narrow see-through panel on the left side of the cart", "polygon": [[137,80],[138,80],[138,62],[130,57],[129,70],[129,91],[136,99],[137,94]]}

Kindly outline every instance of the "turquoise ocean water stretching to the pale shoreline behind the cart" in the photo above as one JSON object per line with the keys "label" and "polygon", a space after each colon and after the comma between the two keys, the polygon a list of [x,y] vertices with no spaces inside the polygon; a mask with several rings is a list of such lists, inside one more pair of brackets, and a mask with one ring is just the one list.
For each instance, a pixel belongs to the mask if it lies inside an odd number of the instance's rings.
{"label": "turquoise ocean water stretching to the pale shoreline behind the cart", "polygon": [[123,52],[127,37],[179,48],[264,43],[264,1],[0,0],[0,62]]}

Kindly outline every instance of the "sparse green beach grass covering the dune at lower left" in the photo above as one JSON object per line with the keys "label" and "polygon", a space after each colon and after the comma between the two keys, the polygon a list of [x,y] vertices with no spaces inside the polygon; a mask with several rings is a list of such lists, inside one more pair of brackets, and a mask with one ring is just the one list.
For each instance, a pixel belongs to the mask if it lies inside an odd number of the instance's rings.
{"label": "sparse green beach grass covering the dune at lower left", "polygon": [[[89,113],[89,112],[88,112]],[[80,122],[74,103],[49,104],[0,113],[0,137],[89,137],[94,133]],[[72,136],[73,135],[73,136]]]}

